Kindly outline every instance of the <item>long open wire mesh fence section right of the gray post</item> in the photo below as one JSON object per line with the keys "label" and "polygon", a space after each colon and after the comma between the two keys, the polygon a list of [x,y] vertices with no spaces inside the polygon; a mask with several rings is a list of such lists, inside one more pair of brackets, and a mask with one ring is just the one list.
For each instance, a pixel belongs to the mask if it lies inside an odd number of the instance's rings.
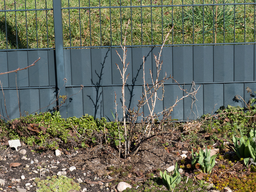
{"label": "long open wire mesh fence section right of the gray post", "polygon": [[255,44],[255,1],[63,1],[65,48]]}

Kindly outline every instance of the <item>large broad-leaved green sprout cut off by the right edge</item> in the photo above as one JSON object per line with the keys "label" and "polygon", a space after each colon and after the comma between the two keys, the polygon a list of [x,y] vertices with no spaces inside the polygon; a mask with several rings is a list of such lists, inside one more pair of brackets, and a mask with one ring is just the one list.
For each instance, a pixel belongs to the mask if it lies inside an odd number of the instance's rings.
{"label": "large broad-leaved green sprout cut off by the right edge", "polygon": [[244,164],[248,166],[250,158],[253,159],[253,161],[256,161],[256,130],[251,130],[249,133],[249,137],[247,138],[241,130],[239,129],[241,138],[239,139],[238,144],[238,138],[233,135],[233,142],[235,145],[234,151],[236,152],[236,155],[239,159],[244,158]]}

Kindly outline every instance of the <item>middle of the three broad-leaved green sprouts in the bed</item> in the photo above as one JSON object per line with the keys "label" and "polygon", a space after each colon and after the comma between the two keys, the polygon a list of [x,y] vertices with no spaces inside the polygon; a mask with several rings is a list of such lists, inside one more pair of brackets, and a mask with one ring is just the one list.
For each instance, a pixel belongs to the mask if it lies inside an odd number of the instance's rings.
{"label": "middle of the three broad-leaved green sprouts in the bed", "polygon": [[194,152],[192,149],[192,166],[194,167],[194,169],[196,168],[196,164],[200,164],[201,166],[201,170],[204,173],[211,173],[212,172],[212,168],[215,165],[215,158],[218,156],[218,154],[215,154],[213,156],[210,155],[211,153],[211,148],[207,149],[206,145],[205,145],[205,152],[203,151],[202,148],[199,149],[199,154],[197,152],[196,153],[196,157],[194,156]]}

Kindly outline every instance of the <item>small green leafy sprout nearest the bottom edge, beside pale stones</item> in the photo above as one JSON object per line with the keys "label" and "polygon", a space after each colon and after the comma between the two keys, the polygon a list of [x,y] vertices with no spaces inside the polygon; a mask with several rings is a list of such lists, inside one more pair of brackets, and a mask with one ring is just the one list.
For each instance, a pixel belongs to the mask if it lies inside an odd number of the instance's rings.
{"label": "small green leafy sprout nearest the bottom edge, beside pale stones", "polygon": [[160,171],[160,176],[164,181],[164,185],[168,187],[169,191],[172,191],[172,189],[176,187],[176,184],[179,184],[181,181],[177,162],[176,162],[174,173],[172,174],[172,176],[167,175],[166,171],[164,171],[164,173]]}

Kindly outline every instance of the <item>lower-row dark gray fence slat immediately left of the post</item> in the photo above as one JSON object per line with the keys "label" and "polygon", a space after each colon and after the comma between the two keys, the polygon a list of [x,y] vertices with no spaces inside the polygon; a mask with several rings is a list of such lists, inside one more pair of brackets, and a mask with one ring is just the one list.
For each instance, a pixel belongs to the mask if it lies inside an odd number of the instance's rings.
{"label": "lower-row dark gray fence slat immediately left of the post", "polygon": [[[56,107],[56,92],[55,88],[52,89],[40,89],[40,112],[45,112],[52,110],[53,107]],[[54,102],[55,101],[55,102]],[[54,102],[54,103],[53,103]]]}

